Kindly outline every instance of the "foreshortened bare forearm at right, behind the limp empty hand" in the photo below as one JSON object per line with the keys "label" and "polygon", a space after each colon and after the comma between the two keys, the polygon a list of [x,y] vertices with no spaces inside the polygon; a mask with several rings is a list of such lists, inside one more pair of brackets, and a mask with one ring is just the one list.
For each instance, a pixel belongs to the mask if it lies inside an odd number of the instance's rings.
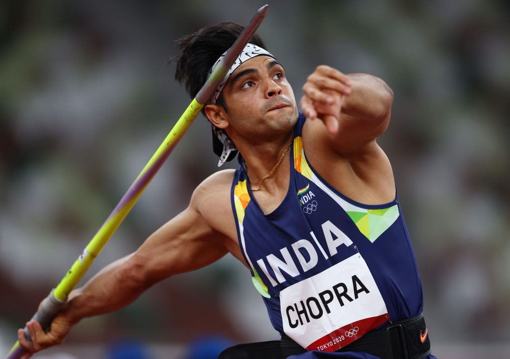
{"label": "foreshortened bare forearm at right, behind the limp empty hand", "polygon": [[351,94],[342,102],[342,113],[362,120],[380,120],[391,110],[393,91],[381,79],[364,73],[347,75]]}

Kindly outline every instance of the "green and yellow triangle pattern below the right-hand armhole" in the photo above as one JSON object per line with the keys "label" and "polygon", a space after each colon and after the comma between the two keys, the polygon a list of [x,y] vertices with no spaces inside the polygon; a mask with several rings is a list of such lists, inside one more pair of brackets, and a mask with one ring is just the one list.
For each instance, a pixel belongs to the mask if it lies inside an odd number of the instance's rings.
{"label": "green and yellow triangle pattern below the right-hand armhole", "polygon": [[356,208],[346,211],[354,221],[360,232],[370,242],[374,242],[386,229],[388,229],[398,218],[398,205],[378,210],[367,210]]}

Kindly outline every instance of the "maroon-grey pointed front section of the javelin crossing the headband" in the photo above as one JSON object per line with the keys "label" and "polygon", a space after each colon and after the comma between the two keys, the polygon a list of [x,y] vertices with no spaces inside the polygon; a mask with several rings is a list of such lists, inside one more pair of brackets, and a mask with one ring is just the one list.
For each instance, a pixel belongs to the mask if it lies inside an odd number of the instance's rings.
{"label": "maroon-grey pointed front section of the javelin crossing the headband", "polygon": [[195,98],[199,104],[207,104],[209,98],[211,98],[213,95],[214,90],[216,90],[221,80],[223,80],[228,70],[230,70],[234,64],[234,61],[236,61],[238,56],[241,54],[244,46],[246,46],[246,44],[250,41],[251,37],[257,31],[259,25],[262,23],[262,20],[264,20],[266,17],[268,7],[269,5],[264,5],[257,11],[248,26],[244,28],[236,42],[234,42],[234,44],[228,50],[225,57],[221,59],[218,66],[216,66],[211,76],[209,76],[209,79],[207,79],[206,83],[203,84],[200,91],[198,91]]}

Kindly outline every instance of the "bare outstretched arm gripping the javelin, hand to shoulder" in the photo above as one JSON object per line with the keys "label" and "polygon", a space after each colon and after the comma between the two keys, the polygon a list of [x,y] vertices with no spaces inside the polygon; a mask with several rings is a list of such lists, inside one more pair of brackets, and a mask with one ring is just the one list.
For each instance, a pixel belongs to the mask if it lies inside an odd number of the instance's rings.
{"label": "bare outstretched arm gripping the javelin, hand to shoulder", "polygon": [[[210,226],[201,213],[208,211],[203,197],[211,191],[210,185],[207,180],[200,185],[189,207],[147,238],[136,252],[103,268],[83,287],[73,290],[48,332],[35,321],[27,323],[33,339],[30,342],[18,330],[19,343],[30,352],[61,344],[81,319],[121,309],[158,281],[223,257],[231,241]],[[218,198],[222,195],[215,192],[212,198],[222,203]]]}

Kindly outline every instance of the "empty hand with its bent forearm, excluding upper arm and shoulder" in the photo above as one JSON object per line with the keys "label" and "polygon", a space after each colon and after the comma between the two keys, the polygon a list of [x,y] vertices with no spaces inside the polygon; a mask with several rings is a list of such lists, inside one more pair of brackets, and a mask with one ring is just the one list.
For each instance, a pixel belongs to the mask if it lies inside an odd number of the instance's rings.
{"label": "empty hand with its bent forearm, excluding upper arm and shoulder", "polygon": [[326,131],[314,125],[313,136],[327,137],[340,155],[364,151],[388,127],[393,92],[375,76],[344,74],[318,66],[303,86],[301,107],[310,119],[320,119]]}

